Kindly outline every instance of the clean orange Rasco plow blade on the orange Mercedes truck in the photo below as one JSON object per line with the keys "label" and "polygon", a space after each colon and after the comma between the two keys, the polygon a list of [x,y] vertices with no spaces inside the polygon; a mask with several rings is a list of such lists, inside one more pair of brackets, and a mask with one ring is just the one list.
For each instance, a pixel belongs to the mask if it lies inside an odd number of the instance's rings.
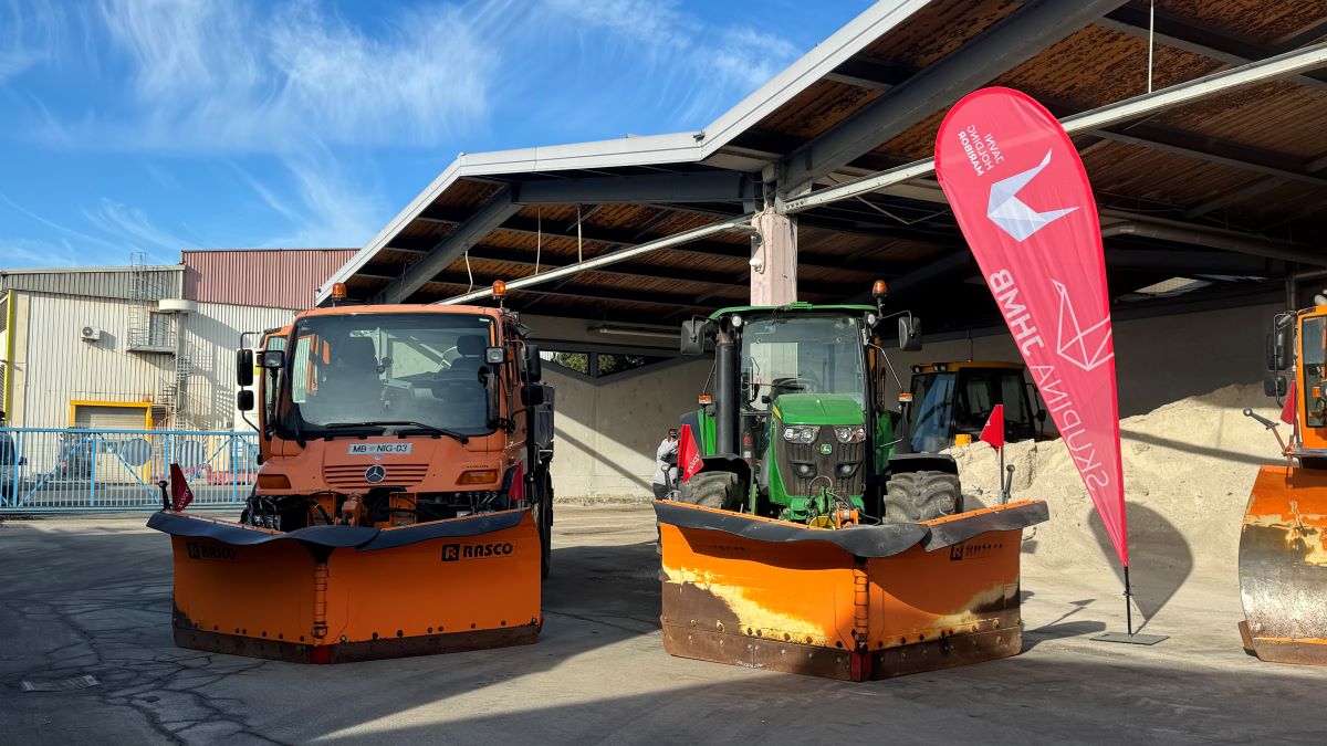
{"label": "clean orange Rasco plow blade on the orange Mercedes truck", "polygon": [[528,510],[393,528],[271,531],[161,511],[175,644],[334,664],[524,645],[541,625]]}

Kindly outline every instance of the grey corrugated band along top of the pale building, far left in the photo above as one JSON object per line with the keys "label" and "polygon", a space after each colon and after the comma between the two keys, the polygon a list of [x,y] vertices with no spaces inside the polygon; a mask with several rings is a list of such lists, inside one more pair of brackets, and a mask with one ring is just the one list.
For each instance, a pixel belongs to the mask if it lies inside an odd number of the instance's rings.
{"label": "grey corrugated band along top of the pale building, far left", "polygon": [[[33,291],[85,297],[180,297],[184,268],[169,267],[81,267],[64,269],[0,271],[0,292]],[[330,276],[330,275],[329,275]]]}

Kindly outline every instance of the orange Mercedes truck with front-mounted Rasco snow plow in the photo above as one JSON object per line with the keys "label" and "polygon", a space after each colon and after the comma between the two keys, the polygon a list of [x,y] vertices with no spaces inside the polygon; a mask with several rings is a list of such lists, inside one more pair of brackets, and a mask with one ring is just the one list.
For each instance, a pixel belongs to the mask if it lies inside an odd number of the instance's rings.
{"label": "orange Mercedes truck with front-mounted Rasco snow plow", "polygon": [[533,642],[553,389],[527,335],[503,308],[361,305],[242,338],[261,466],[239,522],[149,522],[173,540],[175,644],[341,662]]}

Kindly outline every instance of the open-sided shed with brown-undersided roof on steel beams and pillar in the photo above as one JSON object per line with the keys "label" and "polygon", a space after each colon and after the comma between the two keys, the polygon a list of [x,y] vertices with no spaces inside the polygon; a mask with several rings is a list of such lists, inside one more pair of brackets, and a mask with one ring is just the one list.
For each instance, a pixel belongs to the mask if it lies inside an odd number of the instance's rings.
{"label": "open-sided shed with brown-undersided roof on steel beams and pillar", "polygon": [[368,303],[491,303],[500,279],[545,349],[657,356],[630,374],[549,376],[559,494],[641,495],[654,445],[710,373],[674,360],[678,323],[770,291],[752,271],[766,251],[734,228],[794,258],[775,273],[795,295],[764,296],[778,303],[860,303],[888,280],[890,308],[924,320],[928,346],[904,366],[1018,360],[926,163],[949,106],[1003,85],[1107,122],[1074,137],[1105,239],[1121,415],[1257,381],[1271,315],[1318,289],[1287,299],[1287,281],[1327,267],[1327,74],[1184,86],[1320,38],[1320,16],[1270,1],[1162,3],[1154,17],[1120,0],[877,3],[702,129],[458,157],[318,300],[342,281]]}

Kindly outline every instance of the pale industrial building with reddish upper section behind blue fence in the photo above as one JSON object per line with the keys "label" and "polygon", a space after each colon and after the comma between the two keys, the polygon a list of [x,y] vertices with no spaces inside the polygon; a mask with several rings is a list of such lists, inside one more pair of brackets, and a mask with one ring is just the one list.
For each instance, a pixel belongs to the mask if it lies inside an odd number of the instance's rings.
{"label": "pale industrial building with reddish upper section behind blue fence", "polygon": [[183,251],[175,265],[0,271],[7,425],[244,429],[240,333],[289,323],[352,254]]}

